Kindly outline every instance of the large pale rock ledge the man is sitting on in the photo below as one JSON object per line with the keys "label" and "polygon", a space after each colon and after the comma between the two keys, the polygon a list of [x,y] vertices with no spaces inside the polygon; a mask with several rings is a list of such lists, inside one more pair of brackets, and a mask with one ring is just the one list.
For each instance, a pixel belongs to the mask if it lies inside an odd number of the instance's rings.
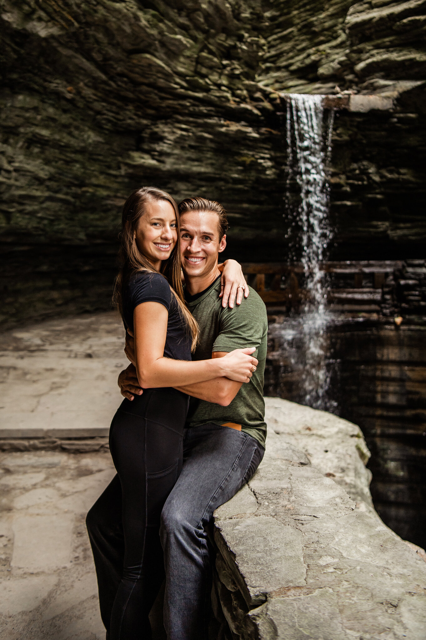
{"label": "large pale rock ledge the man is sitting on", "polygon": [[360,429],[265,401],[264,460],[215,512],[217,637],[423,639],[425,554],[375,513]]}

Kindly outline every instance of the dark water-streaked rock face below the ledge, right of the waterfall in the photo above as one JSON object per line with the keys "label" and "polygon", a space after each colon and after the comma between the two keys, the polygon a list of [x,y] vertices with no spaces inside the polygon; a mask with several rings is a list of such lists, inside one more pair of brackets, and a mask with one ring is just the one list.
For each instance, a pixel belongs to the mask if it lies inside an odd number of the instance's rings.
{"label": "dark water-streaked rock face below the ledge, right of the waterfall", "polygon": [[341,353],[340,415],[363,429],[375,509],[400,536],[425,546],[425,327],[365,323],[333,335]]}

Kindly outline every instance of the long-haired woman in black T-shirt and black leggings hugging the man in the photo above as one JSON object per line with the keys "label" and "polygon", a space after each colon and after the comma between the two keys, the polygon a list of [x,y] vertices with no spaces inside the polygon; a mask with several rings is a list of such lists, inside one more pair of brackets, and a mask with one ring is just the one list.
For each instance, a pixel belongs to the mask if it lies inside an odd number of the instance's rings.
{"label": "long-haired woman in black T-shirt and black leggings hugging the man", "polygon": [[[123,208],[123,268],[116,285],[123,321],[134,333],[144,392],[114,415],[110,449],[123,497],[125,560],[111,616],[111,640],[150,637],[148,614],[162,582],[159,520],[182,467],[188,396],[172,387],[226,376],[248,382],[255,348],[191,362],[198,327],[184,305],[175,200],[153,187]],[[248,353],[247,353],[248,352]]]}

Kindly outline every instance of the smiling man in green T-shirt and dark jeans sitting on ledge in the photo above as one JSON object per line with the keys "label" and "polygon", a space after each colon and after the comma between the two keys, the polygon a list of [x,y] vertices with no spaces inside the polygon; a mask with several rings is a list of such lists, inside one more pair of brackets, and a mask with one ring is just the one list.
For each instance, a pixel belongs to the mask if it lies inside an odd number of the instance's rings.
{"label": "smiling man in green T-shirt and dark jeans sitting on ledge", "polygon": [[[180,247],[187,307],[200,326],[194,360],[220,358],[255,346],[256,371],[248,383],[216,378],[179,387],[191,401],[184,436],[184,465],[162,509],[161,543],[166,568],[164,626],[170,640],[207,640],[212,584],[209,525],[214,509],[232,498],[264,455],[265,305],[250,290],[241,306],[224,308],[219,298],[219,253],[226,247],[225,211],[217,202],[187,198],[179,205]],[[132,342],[127,340],[130,360]],[[133,365],[120,374],[126,397],[140,393]],[[102,620],[108,625],[114,589],[121,579],[123,536],[117,479],[88,514],[97,567]]]}

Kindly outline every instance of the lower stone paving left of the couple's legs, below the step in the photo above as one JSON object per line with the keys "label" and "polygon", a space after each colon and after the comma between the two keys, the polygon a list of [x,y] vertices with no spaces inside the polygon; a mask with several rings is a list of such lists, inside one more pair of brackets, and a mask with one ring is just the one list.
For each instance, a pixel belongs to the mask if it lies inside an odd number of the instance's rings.
{"label": "lower stone paving left of the couple's legs, below the step", "polygon": [[84,519],[109,452],[0,454],[2,640],[103,640]]}

